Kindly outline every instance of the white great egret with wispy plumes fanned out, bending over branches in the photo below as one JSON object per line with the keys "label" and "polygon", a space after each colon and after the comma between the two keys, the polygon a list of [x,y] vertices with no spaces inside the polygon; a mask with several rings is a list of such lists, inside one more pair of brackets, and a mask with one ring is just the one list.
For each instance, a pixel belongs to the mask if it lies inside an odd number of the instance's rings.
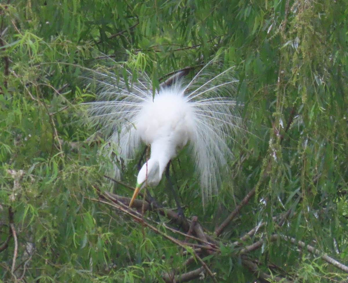
{"label": "white great egret with wispy plumes fanned out, bending over branches", "polygon": [[[121,69],[127,74],[124,78],[110,71],[92,72],[98,101],[89,104],[89,114],[104,131],[111,131],[109,142],[118,146],[125,165],[142,142],[151,146],[129,207],[145,184],[158,185],[168,162],[188,143],[203,201],[216,192],[231,155],[228,143],[240,122],[232,67],[212,76],[211,70],[218,66],[218,60],[213,59],[190,82],[174,80],[171,86],[154,92],[144,74],[143,79],[132,82],[125,69]],[[90,75],[85,78],[92,79]],[[113,170],[119,178],[119,167]]]}

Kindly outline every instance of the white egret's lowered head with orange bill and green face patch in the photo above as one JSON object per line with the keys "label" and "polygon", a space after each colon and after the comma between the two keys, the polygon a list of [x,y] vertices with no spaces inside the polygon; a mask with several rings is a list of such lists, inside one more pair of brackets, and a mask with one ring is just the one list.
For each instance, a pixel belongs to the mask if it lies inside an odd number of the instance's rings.
{"label": "white egret's lowered head with orange bill and green face patch", "polygon": [[161,181],[159,161],[157,159],[150,158],[139,171],[135,190],[132,199],[129,202],[129,207],[132,206],[137,194],[146,184],[149,186],[157,186],[159,181]]}

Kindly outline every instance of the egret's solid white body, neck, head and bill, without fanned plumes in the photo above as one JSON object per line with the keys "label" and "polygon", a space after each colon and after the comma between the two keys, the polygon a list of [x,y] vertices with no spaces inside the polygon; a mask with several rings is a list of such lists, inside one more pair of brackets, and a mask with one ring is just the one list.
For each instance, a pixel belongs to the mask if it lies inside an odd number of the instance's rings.
{"label": "egret's solid white body, neck, head and bill, without fanned plumes", "polygon": [[142,141],[151,145],[151,155],[139,171],[129,206],[142,186],[158,185],[168,162],[192,140],[194,121],[194,108],[184,97],[184,90],[180,85],[161,88],[154,99],[149,98],[143,103],[135,128]]}

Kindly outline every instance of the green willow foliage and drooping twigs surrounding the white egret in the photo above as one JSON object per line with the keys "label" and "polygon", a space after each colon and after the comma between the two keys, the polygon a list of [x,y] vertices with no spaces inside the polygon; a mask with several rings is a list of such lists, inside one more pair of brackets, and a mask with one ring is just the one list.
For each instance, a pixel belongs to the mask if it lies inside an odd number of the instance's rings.
{"label": "green willow foliage and drooping twigs surrounding the white egret", "polygon": [[[2,1],[0,280],[180,282],[198,270],[192,282],[347,282],[347,24],[345,0]],[[236,66],[245,131],[219,195],[203,207],[185,154],[174,163],[185,216],[199,216],[215,252],[175,242],[166,215],[141,224],[100,196],[110,161],[103,141],[86,142],[95,128],[78,105],[93,88],[74,76],[103,64],[97,51],[155,87],[218,53]],[[175,207],[165,182],[155,195]]]}

